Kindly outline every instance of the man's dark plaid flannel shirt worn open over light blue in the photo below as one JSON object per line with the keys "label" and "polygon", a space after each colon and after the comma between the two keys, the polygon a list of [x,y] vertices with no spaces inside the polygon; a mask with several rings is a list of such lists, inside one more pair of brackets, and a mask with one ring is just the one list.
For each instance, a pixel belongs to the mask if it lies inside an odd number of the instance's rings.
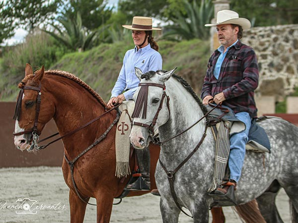
{"label": "man's dark plaid flannel shirt worn open over light blue", "polygon": [[224,93],[224,106],[235,113],[246,111],[251,117],[257,116],[254,90],[258,87],[259,69],[254,50],[238,41],[227,52],[219,79],[213,75],[220,52],[216,50],[209,59],[204,78],[201,98]]}

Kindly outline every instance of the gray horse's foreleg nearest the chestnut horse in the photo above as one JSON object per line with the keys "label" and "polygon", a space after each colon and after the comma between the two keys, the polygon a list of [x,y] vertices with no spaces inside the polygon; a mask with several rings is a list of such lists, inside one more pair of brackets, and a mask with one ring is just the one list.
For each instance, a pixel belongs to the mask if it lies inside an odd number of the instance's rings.
{"label": "gray horse's foreleg nearest the chestnut horse", "polygon": [[180,210],[175,203],[170,205],[166,199],[161,197],[159,207],[163,223],[178,223]]}

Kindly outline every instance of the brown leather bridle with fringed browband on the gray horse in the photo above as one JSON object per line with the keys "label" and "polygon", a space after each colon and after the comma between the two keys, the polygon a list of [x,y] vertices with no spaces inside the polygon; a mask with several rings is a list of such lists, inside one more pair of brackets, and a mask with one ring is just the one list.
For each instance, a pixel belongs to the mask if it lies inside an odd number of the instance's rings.
{"label": "brown leather bridle with fringed browband on the gray horse", "polygon": [[[156,84],[156,83],[139,83],[139,86],[141,86],[141,89],[144,87],[146,88],[144,91],[142,91],[142,94],[144,95],[140,95],[141,93],[141,90],[139,92],[139,95],[138,95],[138,98],[137,98],[137,101],[136,101],[136,106],[135,106],[135,110],[132,114],[132,117],[135,118],[135,117],[140,117],[141,115],[141,111],[142,111],[142,108],[143,108],[143,116],[145,114],[145,117],[146,117],[146,112],[147,112],[147,100],[148,100],[148,87],[149,86],[153,86],[153,87],[159,87],[159,88],[162,88],[163,89],[163,93],[162,93],[162,97],[161,97],[161,100],[160,100],[160,104],[159,104],[159,107],[152,119],[152,122],[150,125],[148,124],[145,124],[145,123],[142,123],[142,122],[136,122],[136,121],[133,121],[132,122],[132,125],[139,125],[139,126],[142,126],[142,127],[146,127],[149,129],[149,133],[150,133],[150,136],[153,137],[154,135],[154,126],[156,124],[156,120],[157,120],[157,117],[158,117],[158,114],[159,114],[159,111],[162,109],[162,104],[163,104],[163,100],[164,98],[167,99],[167,108],[168,108],[168,111],[170,112],[170,105],[169,105],[169,101],[170,101],[170,98],[169,96],[167,96],[167,94],[165,93],[165,85],[164,84]],[[144,103],[144,104],[143,104]],[[144,106],[142,106],[142,104]],[[138,109],[139,108],[139,109]]]}

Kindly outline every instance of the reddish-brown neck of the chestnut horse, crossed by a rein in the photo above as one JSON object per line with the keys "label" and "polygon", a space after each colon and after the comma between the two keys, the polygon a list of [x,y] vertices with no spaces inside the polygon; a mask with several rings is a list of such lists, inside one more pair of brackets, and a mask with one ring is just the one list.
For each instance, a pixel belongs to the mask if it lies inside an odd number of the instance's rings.
{"label": "reddish-brown neck of the chestnut horse, crossed by a rein", "polygon": [[[56,110],[54,120],[60,135],[77,129],[104,112],[103,106],[97,99],[72,80],[48,78],[47,82],[44,83],[44,87],[50,92],[51,96],[49,97],[54,98],[53,102]],[[110,124],[110,120],[107,120],[108,117],[110,115],[105,115],[96,121],[96,124],[89,125],[65,138],[63,140],[64,144],[67,144],[66,147],[68,148],[77,148],[78,143],[81,149],[89,146],[97,135],[101,134],[102,130]]]}

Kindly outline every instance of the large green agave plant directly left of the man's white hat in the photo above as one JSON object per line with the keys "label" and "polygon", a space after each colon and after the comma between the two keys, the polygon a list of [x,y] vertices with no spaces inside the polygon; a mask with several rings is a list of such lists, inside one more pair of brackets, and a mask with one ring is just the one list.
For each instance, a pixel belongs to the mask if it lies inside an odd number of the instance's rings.
{"label": "large green agave plant directly left of the man's white hat", "polygon": [[200,5],[196,0],[193,0],[192,3],[183,0],[183,4],[186,13],[177,12],[176,17],[170,19],[173,25],[166,27],[168,31],[165,31],[163,38],[184,40],[209,38],[209,28],[204,25],[213,18],[212,0],[201,0]]}

